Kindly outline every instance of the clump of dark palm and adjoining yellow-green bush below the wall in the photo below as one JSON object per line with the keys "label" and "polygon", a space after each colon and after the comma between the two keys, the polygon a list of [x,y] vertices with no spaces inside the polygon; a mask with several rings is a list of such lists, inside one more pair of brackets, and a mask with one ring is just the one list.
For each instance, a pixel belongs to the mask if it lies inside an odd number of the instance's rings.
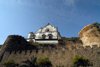
{"label": "clump of dark palm and adjoining yellow-green bush below the wall", "polygon": [[20,67],[51,67],[52,66],[49,58],[40,58],[37,60],[37,58],[34,56],[31,58],[31,60],[27,59],[22,63],[25,64]]}

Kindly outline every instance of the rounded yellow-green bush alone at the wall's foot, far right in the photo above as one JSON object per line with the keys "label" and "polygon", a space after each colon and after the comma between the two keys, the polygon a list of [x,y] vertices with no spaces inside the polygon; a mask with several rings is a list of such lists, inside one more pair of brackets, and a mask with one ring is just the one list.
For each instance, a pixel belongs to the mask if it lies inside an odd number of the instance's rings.
{"label": "rounded yellow-green bush alone at the wall's foot, far right", "polygon": [[73,60],[73,67],[79,67],[79,66],[83,66],[83,67],[93,66],[93,63],[84,57],[76,55]]}

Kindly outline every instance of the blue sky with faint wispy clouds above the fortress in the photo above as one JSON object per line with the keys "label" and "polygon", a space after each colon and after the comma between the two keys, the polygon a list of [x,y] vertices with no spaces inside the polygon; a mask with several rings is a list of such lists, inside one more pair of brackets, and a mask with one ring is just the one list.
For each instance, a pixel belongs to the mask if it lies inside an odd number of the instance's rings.
{"label": "blue sky with faint wispy clouds above the fortress", "polygon": [[94,22],[100,23],[100,0],[0,0],[0,44],[8,35],[27,38],[47,23],[62,37],[78,37]]}

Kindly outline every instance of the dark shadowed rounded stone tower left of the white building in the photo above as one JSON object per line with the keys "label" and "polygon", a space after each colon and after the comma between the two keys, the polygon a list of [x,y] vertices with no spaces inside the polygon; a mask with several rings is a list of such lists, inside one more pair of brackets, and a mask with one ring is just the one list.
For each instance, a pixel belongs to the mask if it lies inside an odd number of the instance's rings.
{"label": "dark shadowed rounded stone tower left of the white building", "polygon": [[4,44],[7,44],[6,51],[19,51],[19,50],[31,50],[36,49],[34,45],[31,45],[24,39],[24,37],[19,35],[10,35],[8,36],[8,41]]}

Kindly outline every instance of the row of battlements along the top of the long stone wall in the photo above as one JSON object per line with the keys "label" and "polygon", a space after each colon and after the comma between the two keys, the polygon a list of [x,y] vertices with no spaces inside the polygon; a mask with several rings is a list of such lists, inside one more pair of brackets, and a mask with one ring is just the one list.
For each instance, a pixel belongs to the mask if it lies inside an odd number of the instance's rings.
{"label": "row of battlements along the top of the long stone wall", "polygon": [[68,48],[48,48],[48,49],[45,49],[45,48],[42,48],[42,49],[32,49],[32,50],[19,50],[19,51],[6,51],[8,52],[9,54],[31,54],[31,53],[35,53],[35,54],[38,54],[38,53],[45,53],[45,52],[55,52],[55,54],[58,52],[70,52],[70,51],[80,51],[82,50],[83,52],[84,51],[91,51],[91,50],[98,50],[100,49],[100,47],[98,47],[97,45],[94,45],[92,48],[90,46],[86,46],[85,48],[83,46],[79,46],[79,47],[68,47]]}

